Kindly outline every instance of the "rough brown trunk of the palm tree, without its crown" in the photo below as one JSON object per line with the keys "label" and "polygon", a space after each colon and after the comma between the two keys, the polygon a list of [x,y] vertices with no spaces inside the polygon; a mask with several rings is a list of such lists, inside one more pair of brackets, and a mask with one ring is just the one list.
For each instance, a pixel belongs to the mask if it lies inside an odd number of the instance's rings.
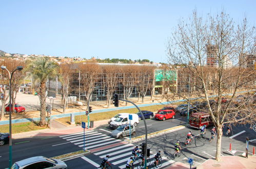
{"label": "rough brown trunk of the palm tree, without its crown", "polygon": [[40,121],[39,125],[44,126],[45,123],[45,118],[46,118],[46,83],[42,82],[40,84],[40,89],[39,89],[39,99],[40,99]]}

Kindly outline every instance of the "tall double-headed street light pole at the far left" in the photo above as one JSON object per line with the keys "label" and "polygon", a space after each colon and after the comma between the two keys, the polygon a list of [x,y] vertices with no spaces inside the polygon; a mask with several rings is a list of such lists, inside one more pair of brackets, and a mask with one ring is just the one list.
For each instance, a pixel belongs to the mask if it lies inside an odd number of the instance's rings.
{"label": "tall double-headed street light pole at the far left", "polygon": [[17,68],[12,71],[10,73],[10,71],[8,69],[6,69],[6,66],[1,66],[1,69],[3,70],[7,70],[8,74],[9,74],[9,78],[10,78],[10,81],[9,81],[9,97],[10,97],[10,101],[9,101],[9,168],[11,168],[12,166],[12,97],[11,97],[11,81],[12,81],[12,75],[13,73],[18,70],[18,71],[21,71],[23,69],[23,66],[17,66]]}

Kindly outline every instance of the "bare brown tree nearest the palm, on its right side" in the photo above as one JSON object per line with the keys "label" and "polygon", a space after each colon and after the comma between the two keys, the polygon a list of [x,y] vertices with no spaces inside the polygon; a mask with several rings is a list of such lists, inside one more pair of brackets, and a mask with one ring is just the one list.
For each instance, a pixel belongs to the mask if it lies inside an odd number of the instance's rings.
{"label": "bare brown tree nearest the palm, on its right side", "polygon": [[60,65],[60,80],[62,83],[62,104],[63,104],[63,113],[66,112],[66,109],[68,108],[68,95],[70,92],[69,85],[70,80],[72,78],[74,72],[73,64],[62,64]]}

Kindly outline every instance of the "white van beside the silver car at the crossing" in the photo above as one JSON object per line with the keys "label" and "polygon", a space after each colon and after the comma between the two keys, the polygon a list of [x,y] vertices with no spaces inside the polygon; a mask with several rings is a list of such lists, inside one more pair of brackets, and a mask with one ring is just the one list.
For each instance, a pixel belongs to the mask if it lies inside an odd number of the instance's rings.
{"label": "white van beside the silver car at the crossing", "polygon": [[[109,127],[116,129],[120,125],[129,124],[130,123],[129,115],[130,114],[125,114],[117,117],[114,121],[110,122]],[[139,124],[139,116],[137,114],[131,114],[131,115],[132,115],[131,125],[137,126],[137,124]]]}

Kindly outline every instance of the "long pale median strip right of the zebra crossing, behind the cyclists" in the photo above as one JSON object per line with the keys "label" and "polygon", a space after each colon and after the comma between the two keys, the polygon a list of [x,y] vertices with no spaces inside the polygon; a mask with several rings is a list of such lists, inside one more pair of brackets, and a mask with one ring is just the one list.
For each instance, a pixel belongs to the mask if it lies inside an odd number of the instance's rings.
{"label": "long pale median strip right of the zebra crossing, behind the cyclists", "polygon": [[[173,128],[169,128],[169,129],[149,133],[148,138],[163,135],[163,134],[166,134],[166,133],[171,133],[171,132],[178,131],[178,130],[181,130],[181,129],[184,129],[184,128],[186,128],[186,125],[174,126]],[[140,141],[140,140],[145,140],[145,135],[134,137],[131,140],[126,138],[124,141],[132,143],[132,142],[137,142],[137,141]]]}

